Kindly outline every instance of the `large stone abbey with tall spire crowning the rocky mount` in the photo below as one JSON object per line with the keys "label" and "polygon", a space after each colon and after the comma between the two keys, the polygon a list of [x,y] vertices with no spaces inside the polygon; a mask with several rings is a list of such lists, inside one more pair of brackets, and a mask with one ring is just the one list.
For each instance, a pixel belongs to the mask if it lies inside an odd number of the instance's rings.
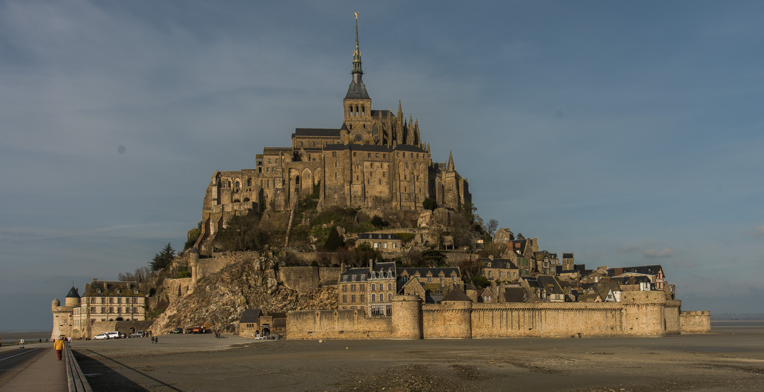
{"label": "large stone abbey with tall spire crowning the rocky mount", "polygon": [[[356,23],[352,79],[342,100],[338,128],[296,128],[290,147],[266,147],[254,169],[215,171],[202,207],[196,246],[209,255],[215,233],[233,215],[293,209],[316,195],[326,206],[422,209],[426,198],[458,209],[471,202],[467,179],[446,162],[433,161],[419,121],[397,112],[371,109],[364,85]],[[338,108],[339,109],[339,108]]]}

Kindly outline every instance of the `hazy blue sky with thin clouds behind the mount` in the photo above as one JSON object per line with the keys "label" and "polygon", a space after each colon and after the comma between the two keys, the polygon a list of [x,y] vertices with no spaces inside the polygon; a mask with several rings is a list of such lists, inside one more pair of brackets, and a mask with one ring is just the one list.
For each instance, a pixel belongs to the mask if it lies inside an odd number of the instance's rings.
{"label": "hazy blue sky with thin clouds behind the mount", "polygon": [[[283,3],[283,4],[282,4]],[[0,1],[0,329],[145,265],[215,170],[338,128],[359,11],[375,109],[478,213],[682,309],[764,312],[761,2]]]}

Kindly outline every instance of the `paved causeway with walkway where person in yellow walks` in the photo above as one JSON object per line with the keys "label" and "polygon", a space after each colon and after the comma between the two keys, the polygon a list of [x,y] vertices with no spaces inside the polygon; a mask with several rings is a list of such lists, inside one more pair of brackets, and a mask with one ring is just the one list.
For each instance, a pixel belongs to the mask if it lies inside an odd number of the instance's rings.
{"label": "paved causeway with walkway where person in yellow walks", "polygon": [[7,380],[0,379],[0,392],[69,391],[66,361],[57,361],[53,348],[20,348],[0,354],[0,370],[12,364],[12,368],[3,373]]}

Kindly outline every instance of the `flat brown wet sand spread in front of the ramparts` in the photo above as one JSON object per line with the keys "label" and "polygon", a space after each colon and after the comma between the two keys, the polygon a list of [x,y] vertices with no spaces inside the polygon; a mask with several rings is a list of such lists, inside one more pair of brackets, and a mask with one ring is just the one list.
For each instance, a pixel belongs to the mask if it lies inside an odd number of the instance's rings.
{"label": "flat brown wet sand spread in front of the ramparts", "polygon": [[764,326],[667,338],[73,342],[96,392],[760,391]]}

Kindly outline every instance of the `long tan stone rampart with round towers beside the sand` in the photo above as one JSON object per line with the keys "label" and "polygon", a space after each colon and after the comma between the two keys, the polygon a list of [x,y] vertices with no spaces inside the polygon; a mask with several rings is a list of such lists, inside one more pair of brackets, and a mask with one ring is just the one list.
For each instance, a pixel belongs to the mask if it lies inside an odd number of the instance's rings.
{"label": "long tan stone rampart with round towers beside the sand", "polygon": [[422,305],[394,296],[393,315],[358,309],[287,313],[288,339],[470,339],[665,336],[681,333],[681,301],[663,291],[624,292],[620,303],[472,303]]}

